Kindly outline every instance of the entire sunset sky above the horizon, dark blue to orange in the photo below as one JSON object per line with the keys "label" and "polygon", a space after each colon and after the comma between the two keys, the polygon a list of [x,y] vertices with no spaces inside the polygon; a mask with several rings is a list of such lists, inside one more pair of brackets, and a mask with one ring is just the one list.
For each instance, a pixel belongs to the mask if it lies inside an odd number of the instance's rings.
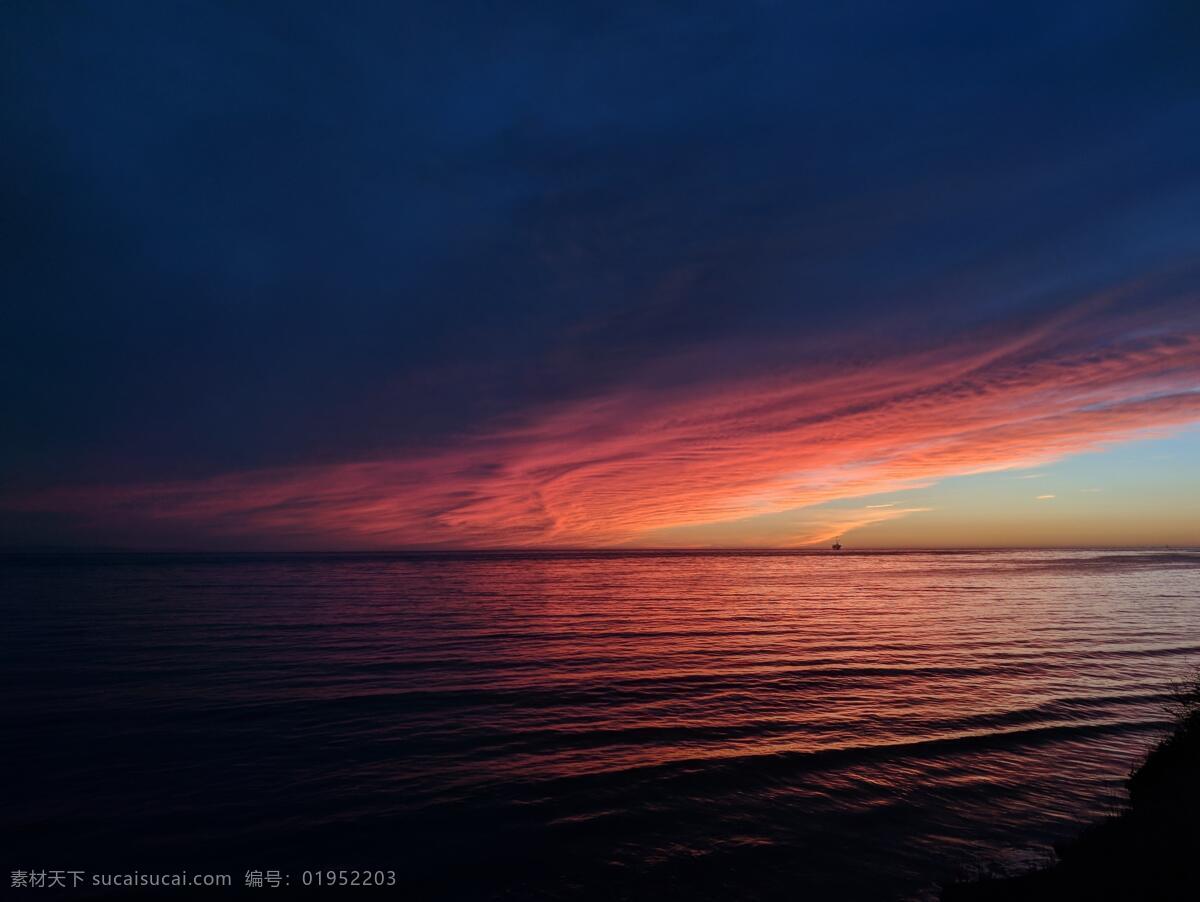
{"label": "entire sunset sky above the horizon, dark blue to orange", "polygon": [[1200,545],[1195,4],[0,17],[0,546]]}

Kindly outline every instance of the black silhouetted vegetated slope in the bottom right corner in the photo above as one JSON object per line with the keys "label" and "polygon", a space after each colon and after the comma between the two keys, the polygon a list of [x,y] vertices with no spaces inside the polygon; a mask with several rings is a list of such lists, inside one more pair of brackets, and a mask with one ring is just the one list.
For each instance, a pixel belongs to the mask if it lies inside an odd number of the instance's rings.
{"label": "black silhouetted vegetated slope in the bottom right corner", "polygon": [[1200,671],[1172,693],[1175,726],[1126,781],[1124,807],[1015,877],[954,883],[942,902],[1181,900],[1200,889]]}

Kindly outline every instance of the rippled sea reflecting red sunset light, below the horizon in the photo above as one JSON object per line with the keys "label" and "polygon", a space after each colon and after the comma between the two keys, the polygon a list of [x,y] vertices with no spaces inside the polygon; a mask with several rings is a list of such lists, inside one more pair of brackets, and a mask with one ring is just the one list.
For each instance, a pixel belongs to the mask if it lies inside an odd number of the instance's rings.
{"label": "rippled sea reflecting red sunset light, below the horizon", "polygon": [[5,871],[408,898],[928,897],[1111,806],[1200,659],[1182,552],[8,557],[0,605]]}

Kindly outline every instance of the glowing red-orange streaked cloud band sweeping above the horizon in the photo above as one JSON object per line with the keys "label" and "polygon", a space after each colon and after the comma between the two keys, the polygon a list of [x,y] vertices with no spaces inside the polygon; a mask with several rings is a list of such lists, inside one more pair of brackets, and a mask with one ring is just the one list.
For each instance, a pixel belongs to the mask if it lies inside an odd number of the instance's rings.
{"label": "glowing red-orange streaked cloud band sweeping above the horizon", "polygon": [[1142,330],[1072,345],[1061,337],[1070,329],[1084,333],[1081,321],[1058,319],[850,371],[797,363],[755,378],[629,387],[390,459],[61,489],[6,506],[100,524],[191,524],[289,547],[826,541],[913,511],[800,517],[772,534],[745,523],[952,475],[1039,467],[1200,420],[1200,333]]}

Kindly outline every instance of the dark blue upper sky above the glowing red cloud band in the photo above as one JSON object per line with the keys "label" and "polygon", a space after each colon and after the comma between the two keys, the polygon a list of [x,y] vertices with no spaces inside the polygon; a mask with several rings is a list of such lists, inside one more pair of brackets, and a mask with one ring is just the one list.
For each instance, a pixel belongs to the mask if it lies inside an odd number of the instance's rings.
{"label": "dark blue upper sky above the glowing red cloud band", "polygon": [[7,2],[0,488],[1190,335],[1198,10]]}

